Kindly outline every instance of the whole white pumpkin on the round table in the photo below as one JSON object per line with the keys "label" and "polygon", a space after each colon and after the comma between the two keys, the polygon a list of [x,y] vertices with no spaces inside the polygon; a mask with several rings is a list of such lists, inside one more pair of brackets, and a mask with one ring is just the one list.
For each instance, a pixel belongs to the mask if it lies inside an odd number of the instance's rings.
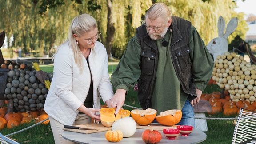
{"label": "whole white pumpkin on the round table", "polygon": [[112,125],[112,131],[121,131],[123,137],[131,137],[136,132],[136,129],[137,124],[135,120],[129,116],[116,120]]}

